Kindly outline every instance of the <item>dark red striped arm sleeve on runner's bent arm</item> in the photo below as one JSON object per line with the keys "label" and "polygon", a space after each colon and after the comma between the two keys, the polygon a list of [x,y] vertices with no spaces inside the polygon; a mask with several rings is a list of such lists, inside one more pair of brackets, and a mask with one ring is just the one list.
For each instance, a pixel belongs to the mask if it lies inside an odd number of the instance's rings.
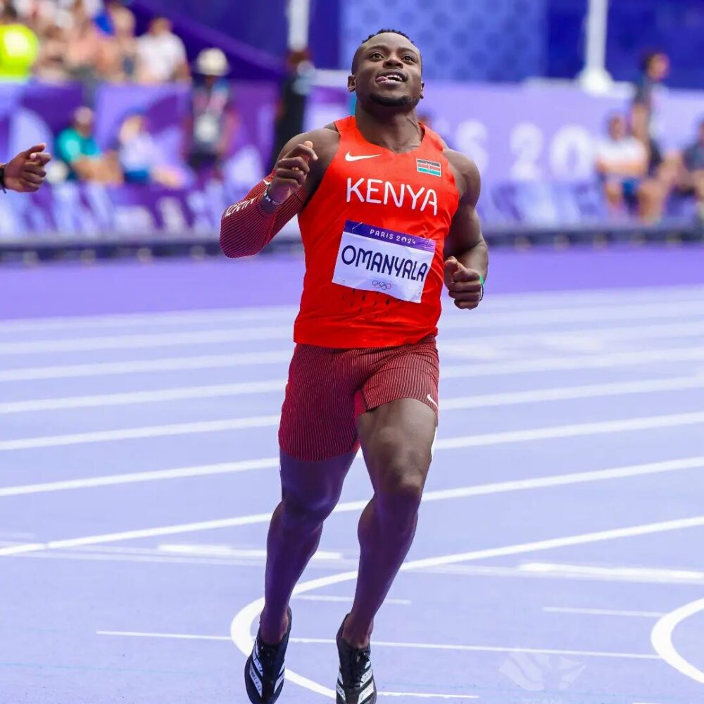
{"label": "dark red striped arm sleeve on runner's bent arm", "polygon": [[262,251],[275,234],[294,215],[301,212],[306,202],[304,189],[299,189],[275,210],[267,213],[261,204],[261,197],[268,184],[274,179],[272,171],[249,191],[244,200],[234,203],[225,210],[220,221],[220,249],[228,257],[249,257]]}

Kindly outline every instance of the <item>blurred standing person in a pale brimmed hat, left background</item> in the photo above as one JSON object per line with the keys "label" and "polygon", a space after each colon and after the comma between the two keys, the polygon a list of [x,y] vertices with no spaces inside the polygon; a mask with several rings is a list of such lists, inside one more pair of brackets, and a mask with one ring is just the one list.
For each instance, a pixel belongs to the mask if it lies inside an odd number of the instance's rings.
{"label": "blurred standing person in a pale brimmed hat, left background", "polygon": [[229,71],[227,57],[220,49],[201,51],[196,59],[191,115],[184,130],[184,151],[191,168],[218,179],[237,129],[230,82],[225,80]]}

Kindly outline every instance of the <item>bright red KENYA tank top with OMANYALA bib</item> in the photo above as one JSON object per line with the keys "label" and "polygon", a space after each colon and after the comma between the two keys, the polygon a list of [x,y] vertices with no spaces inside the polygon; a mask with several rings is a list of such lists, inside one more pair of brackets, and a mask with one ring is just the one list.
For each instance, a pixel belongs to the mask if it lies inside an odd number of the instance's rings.
{"label": "bright red KENYA tank top with OMANYALA bib", "polygon": [[340,144],[298,215],[306,252],[294,340],[322,347],[391,347],[436,334],[444,241],[459,196],[440,137],[417,149],[367,142],[356,118],[335,122]]}

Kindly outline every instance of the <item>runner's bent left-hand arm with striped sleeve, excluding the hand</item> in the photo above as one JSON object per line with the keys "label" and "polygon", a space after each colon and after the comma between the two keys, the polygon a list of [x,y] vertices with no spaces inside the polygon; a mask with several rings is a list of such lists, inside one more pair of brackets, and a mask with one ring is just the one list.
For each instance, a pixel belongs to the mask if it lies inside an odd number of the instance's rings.
{"label": "runner's bent left-hand arm with striped sleeve, excluding the hand", "polygon": [[[313,142],[318,160],[308,162],[310,170],[307,174],[296,174],[298,183],[294,184],[291,194],[281,206],[270,205],[263,200],[264,191],[275,177],[283,176],[284,181],[293,183],[286,177],[289,170],[282,170],[279,163],[303,142]],[[338,144],[339,134],[334,127],[298,134],[289,140],[279,154],[277,168],[251,189],[244,200],[234,203],[223,213],[220,222],[220,249],[232,258],[252,256],[264,249],[277,232],[280,232],[294,215],[301,212],[310,196],[315,193]]]}

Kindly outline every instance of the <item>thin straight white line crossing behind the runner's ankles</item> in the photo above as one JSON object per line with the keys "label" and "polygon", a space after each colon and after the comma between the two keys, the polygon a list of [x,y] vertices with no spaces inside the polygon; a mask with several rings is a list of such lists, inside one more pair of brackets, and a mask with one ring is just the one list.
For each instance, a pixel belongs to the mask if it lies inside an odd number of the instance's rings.
{"label": "thin straight white line crossing behind the runner's ankles", "polygon": [[[149,633],[142,631],[96,631],[98,636],[122,638],[155,638],[177,641],[229,641],[227,636],[201,636],[191,633]],[[334,646],[332,638],[294,638],[291,643],[302,645]],[[375,648],[401,648],[406,650],[454,650],[460,653],[534,653],[539,655],[577,655],[584,658],[624,658],[627,660],[660,660],[652,653],[615,653],[603,650],[561,650],[558,648],[517,648],[515,646],[465,646],[453,643],[404,643],[373,641]]]}

